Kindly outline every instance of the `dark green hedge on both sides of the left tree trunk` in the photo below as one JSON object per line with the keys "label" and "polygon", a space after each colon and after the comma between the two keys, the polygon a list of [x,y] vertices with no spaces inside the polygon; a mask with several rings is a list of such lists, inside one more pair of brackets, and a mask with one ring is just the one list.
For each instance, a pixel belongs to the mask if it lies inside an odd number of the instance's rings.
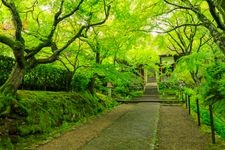
{"label": "dark green hedge on both sides of the left tree trunk", "polygon": [[[0,56],[0,63],[0,85],[2,85],[13,69],[15,60],[11,57]],[[20,89],[68,91],[71,89],[71,78],[72,73],[68,70],[52,65],[40,65],[26,72]]]}

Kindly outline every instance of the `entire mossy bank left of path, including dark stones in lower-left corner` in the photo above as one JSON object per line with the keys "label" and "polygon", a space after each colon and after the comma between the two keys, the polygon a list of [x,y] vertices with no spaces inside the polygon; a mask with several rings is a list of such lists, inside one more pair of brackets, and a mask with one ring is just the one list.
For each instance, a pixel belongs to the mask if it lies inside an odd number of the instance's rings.
{"label": "entire mossy bank left of path, including dark stones in lower-left corner", "polygon": [[117,105],[105,95],[87,92],[19,91],[17,101],[23,109],[0,120],[0,133],[7,136],[0,139],[0,149],[23,149]]}

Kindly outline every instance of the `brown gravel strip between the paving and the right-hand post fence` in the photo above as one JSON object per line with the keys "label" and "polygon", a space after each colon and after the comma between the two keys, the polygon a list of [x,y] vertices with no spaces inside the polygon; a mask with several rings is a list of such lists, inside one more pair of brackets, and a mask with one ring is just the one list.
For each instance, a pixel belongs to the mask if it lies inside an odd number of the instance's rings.
{"label": "brown gravel strip between the paving and the right-hand post fence", "polygon": [[161,105],[159,150],[208,150],[210,134],[202,133],[188,112],[177,105]]}

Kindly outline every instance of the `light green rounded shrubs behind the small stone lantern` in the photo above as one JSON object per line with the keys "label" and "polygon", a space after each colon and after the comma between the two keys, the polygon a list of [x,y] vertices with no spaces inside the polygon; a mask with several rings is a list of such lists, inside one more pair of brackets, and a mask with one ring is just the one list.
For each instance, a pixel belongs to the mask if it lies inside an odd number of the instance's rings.
{"label": "light green rounded shrubs behind the small stone lantern", "polygon": [[107,94],[107,82],[113,85],[114,97],[126,97],[132,92],[143,90],[143,79],[130,70],[118,71],[115,66],[99,65],[93,69],[83,68],[73,76],[72,89],[77,92],[86,91],[91,78],[95,76],[95,90]]}

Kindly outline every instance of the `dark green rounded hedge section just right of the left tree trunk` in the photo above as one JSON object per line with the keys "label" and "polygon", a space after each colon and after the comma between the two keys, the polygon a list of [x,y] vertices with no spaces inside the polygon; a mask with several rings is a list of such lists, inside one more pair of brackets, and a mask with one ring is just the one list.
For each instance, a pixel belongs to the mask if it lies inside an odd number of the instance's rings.
{"label": "dark green rounded hedge section just right of the left tree trunk", "polygon": [[72,74],[52,65],[39,65],[28,71],[23,79],[22,88],[27,90],[70,90]]}

